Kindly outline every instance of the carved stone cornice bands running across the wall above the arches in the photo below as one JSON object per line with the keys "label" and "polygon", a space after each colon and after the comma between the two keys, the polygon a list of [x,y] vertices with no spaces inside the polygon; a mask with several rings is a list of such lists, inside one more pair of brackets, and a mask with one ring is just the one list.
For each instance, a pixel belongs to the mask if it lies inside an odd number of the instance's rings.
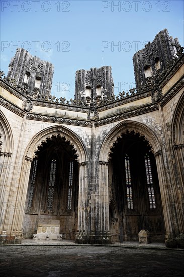
{"label": "carved stone cornice bands running across the wall above the arches", "polygon": [[[152,104],[146,104],[143,105],[139,108],[134,108],[134,109],[130,109],[124,112],[116,112],[112,115],[106,116],[102,119],[99,119],[99,112],[100,111],[104,111],[104,110],[108,110],[110,108],[117,108],[120,107],[121,105],[125,104],[125,103],[131,103],[135,100],[138,99],[143,99],[146,97],[150,97],[152,96],[152,93],[154,93],[154,90],[160,90],[161,88],[164,87],[165,84],[167,84],[167,82],[170,80],[170,78],[177,72],[177,70],[181,67],[181,65],[183,64],[183,59],[184,59],[184,54],[174,62],[174,64],[169,68],[169,71],[167,72],[167,74],[165,75],[165,77],[160,80],[160,83],[156,86],[153,87],[152,89],[148,89],[145,92],[142,93],[134,93],[133,95],[130,96],[126,96],[126,97],[122,97],[120,99],[116,100],[112,100],[112,102],[110,103],[104,103],[100,106],[94,106],[94,107],[89,107],[89,106],[75,106],[74,102],[73,105],[72,104],[67,104],[67,103],[58,103],[57,101],[46,101],[46,100],[38,100],[38,99],[31,99],[32,101],[32,105],[34,106],[43,106],[43,107],[50,107],[53,109],[63,109],[63,110],[70,110],[73,112],[83,112],[83,113],[87,113],[88,116],[88,120],[83,120],[83,119],[75,119],[75,118],[63,118],[62,116],[49,116],[49,115],[45,115],[45,114],[34,114],[32,112],[28,112],[28,110],[26,110],[27,113],[27,118],[28,119],[32,119],[32,120],[39,120],[39,121],[48,121],[48,122],[56,122],[56,123],[64,123],[64,124],[71,124],[71,125],[81,125],[81,126],[87,126],[87,127],[91,127],[92,122],[94,122],[95,126],[100,126],[109,122],[113,122],[113,121],[119,121],[125,118],[129,118],[129,117],[133,117],[133,116],[137,116],[139,114],[143,114],[143,113],[147,113],[147,112],[151,112],[153,110],[157,110],[158,109],[158,103],[161,106],[164,106],[180,89],[182,89],[184,87],[184,78],[181,77],[180,80],[178,80],[172,88],[170,88],[168,90],[168,92],[160,98],[158,98],[157,100],[154,101],[154,99],[152,98]],[[1,79],[0,80],[0,84],[2,85],[3,88],[5,88],[6,90],[8,90],[10,93],[12,93],[13,95],[15,95],[17,98],[21,99],[23,102],[25,102],[28,97],[27,95],[24,95],[23,92],[19,91],[19,89],[15,88],[13,86],[12,83],[8,83],[6,80]],[[68,101],[66,101],[68,102]],[[11,103],[10,101],[8,101],[7,99],[0,97],[0,103],[8,108],[9,110],[11,110],[12,112],[18,114],[19,116],[23,117],[25,115],[25,111],[24,111],[24,106],[23,107],[18,107],[16,104]],[[95,116],[90,116],[91,112],[94,112]]]}

